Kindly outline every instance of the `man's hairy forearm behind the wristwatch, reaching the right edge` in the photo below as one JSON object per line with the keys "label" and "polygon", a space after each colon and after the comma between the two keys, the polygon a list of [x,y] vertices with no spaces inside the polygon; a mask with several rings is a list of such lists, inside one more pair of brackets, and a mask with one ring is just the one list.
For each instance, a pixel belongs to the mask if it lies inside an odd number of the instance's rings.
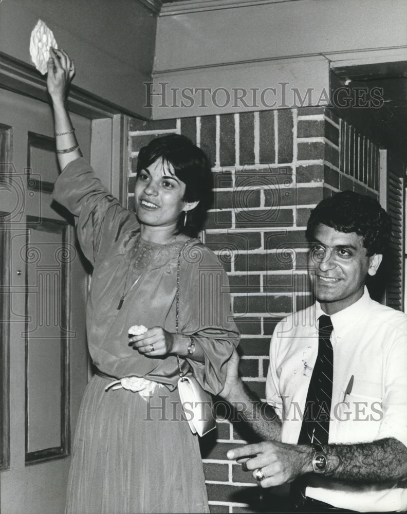
{"label": "man's hairy forearm behind the wristwatch, reaching the right edge", "polygon": [[347,483],[377,484],[407,478],[407,448],[394,438],[324,446],[326,476]]}

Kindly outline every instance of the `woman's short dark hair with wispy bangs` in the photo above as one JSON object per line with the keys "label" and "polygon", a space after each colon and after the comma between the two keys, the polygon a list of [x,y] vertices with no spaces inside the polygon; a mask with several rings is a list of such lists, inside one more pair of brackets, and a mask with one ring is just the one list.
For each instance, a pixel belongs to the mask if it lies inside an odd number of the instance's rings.
{"label": "woman's short dark hair with wispy bangs", "polygon": [[141,148],[137,159],[137,177],[157,159],[171,164],[174,174],[185,183],[183,201],[199,201],[199,204],[178,218],[177,233],[196,237],[204,225],[206,211],[212,203],[212,171],[206,154],[188,137],[178,134],[161,136]]}

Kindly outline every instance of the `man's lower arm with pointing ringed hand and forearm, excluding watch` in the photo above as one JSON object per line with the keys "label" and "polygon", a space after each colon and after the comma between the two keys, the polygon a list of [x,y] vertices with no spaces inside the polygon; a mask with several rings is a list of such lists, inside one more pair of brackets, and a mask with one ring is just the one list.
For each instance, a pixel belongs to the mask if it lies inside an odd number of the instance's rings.
{"label": "man's lower arm with pointing ringed hand and forearm, excluding watch", "polygon": [[[407,448],[393,437],[372,443],[324,445],[326,470],[324,475],[347,484],[378,484],[407,478]],[[229,459],[249,458],[245,470],[262,468],[262,487],[292,482],[297,476],[312,473],[313,447],[277,442],[246,445],[228,451]]]}

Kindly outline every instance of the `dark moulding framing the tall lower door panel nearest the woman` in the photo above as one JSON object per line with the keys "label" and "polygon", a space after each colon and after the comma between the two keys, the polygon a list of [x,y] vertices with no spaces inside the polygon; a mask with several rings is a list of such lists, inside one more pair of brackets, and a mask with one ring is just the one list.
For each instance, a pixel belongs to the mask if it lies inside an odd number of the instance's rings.
{"label": "dark moulding framing the tall lower door panel nearest the woman", "polygon": [[[62,246],[72,244],[73,235],[72,229],[68,227],[67,223],[60,222],[55,219],[38,218],[36,216],[27,216],[27,228],[39,228],[39,224],[45,224],[46,227],[52,228],[57,226],[62,234]],[[29,244],[29,234],[27,231],[26,244]],[[69,369],[69,346],[67,333],[69,333],[69,299],[70,299],[70,267],[69,262],[61,263],[61,328],[60,328],[60,342],[61,342],[61,445],[59,447],[44,448],[41,450],[28,451],[28,262],[26,263],[26,323],[25,323],[25,463],[26,466],[54,460],[55,458],[64,458],[70,452],[70,369]],[[67,331],[68,329],[68,331]]]}

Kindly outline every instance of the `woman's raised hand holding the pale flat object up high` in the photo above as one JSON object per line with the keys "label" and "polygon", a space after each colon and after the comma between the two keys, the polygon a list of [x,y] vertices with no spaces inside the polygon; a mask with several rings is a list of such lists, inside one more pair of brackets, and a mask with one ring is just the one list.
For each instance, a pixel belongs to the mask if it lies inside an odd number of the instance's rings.
{"label": "woman's raised hand holding the pale flat object up high", "polygon": [[47,88],[53,103],[64,102],[68,86],[75,75],[75,63],[64,50],[49,49]]}

